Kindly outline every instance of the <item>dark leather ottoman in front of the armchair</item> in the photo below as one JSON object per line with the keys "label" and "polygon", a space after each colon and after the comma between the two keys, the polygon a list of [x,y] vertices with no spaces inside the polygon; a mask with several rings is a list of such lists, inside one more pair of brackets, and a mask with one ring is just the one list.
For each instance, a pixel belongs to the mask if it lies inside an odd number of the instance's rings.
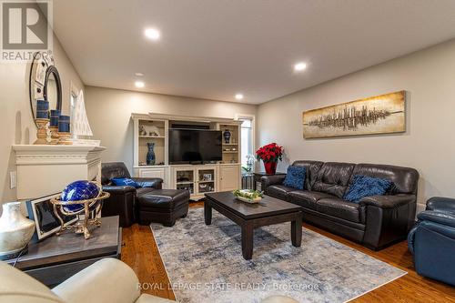
{"label": "dark leather ottoman in front of the armchair", "polygon": [[162,223],[165,227],[176,224],[178,217],[187,217],[189,191],[183,189],[156,189],[137,197],[139,224]]}

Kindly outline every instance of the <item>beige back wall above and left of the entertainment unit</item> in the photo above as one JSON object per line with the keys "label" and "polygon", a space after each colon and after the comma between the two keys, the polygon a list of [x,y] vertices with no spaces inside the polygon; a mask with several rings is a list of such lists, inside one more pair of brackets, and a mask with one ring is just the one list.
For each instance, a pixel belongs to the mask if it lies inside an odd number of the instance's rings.
{"label": "beige back wall above and left of the entertainment unit", "polygon": [[[234,118],[256,115],[257,106],[86,86],[86,112],[94,138],[106,146],[104,162],[122,161],[133,167],[132,113]],[[131,171],[132,173],[132,171]]]}

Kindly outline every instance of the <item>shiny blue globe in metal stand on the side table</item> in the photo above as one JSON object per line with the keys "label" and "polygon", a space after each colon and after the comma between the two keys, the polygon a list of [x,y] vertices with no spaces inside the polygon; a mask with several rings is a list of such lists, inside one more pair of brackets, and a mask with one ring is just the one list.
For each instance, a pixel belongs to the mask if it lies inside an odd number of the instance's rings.
{"label": "shiny blue globe in metal stand on the side table", "polygon": [[[99,187],[97,187],[95,183],[81,180],[67,185],[62,191],[61,200],[62,202],[88,200],[97,197],[98,194]],[[64,207],[66,211],[70,212],[76,212],[82,208],[84,208],[84,205],[82,204],[66,205]]]}

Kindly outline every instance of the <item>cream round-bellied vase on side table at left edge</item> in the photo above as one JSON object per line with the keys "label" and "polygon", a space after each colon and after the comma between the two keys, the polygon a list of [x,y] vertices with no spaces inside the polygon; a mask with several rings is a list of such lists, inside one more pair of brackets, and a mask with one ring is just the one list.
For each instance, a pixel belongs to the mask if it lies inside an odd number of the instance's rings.
{"label": "cream round-bellied vase on side table at left edge", "polygon": [[17,257],[34,232],[35,222],[22,215],[21,202],[5,203],[0,217],[0,259]]}

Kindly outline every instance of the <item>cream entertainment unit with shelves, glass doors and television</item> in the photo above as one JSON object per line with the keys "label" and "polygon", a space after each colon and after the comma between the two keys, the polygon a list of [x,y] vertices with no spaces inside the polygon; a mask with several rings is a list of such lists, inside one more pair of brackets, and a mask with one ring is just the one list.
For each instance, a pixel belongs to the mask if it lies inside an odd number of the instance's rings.
{"label": "cream entertainment unit with shelves, glass doors and television", "polygon": [[135,177],[159,177],[164,189],[186,189],[193,200],[241,187],[242,121],[157,113],[131,118]]}

